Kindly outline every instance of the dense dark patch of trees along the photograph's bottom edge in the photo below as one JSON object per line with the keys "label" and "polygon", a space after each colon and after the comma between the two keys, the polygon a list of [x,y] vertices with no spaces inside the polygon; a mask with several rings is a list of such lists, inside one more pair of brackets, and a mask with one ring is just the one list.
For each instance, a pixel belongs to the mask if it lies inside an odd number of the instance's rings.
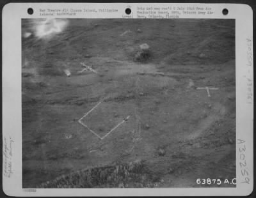
{"label": "dense dark patch of trees along the photograph's bottom edge", "polygon": [[[147,187],[152,174],[142,161],[93,167],[47,181],[38,188],[122,188]],[[156,179],[154,179],[156,180]]]}

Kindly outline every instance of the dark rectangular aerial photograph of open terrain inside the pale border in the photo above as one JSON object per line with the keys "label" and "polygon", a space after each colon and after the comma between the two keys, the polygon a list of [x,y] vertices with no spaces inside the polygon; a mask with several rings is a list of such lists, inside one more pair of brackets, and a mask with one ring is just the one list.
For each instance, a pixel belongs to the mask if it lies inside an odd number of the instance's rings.
{"label": "dark rectangular aerial photograph of open terrain inside the pale border", "polygon": [[236,187],[235,52],[231,19],[22,19],[22,187]]}

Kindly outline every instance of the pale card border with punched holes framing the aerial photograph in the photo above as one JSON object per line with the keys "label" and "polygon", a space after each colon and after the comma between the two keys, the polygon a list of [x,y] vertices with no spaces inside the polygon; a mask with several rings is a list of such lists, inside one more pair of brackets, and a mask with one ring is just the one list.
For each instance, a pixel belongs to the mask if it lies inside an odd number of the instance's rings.
{"label": "pale card border with punched holes framing the aerial photograph", "polygon": [[[28,18],[126,18],[125,8],[136,13],[137,6],[208,6],[211,16],[180,16],[193,19],[236,20],[236,188],[22,188],[22,110],[21,110],[21,19]],[[39,9],[115,8],[114,12],[78,13],[76,16],[40,16]],[[34,14],[28,15],[28,8]],[[228,15],[223,15],[223,8]],[[163,196],[163,195],[250,195],[253,190],[253,12],[246,4],[179,3],[10,3],[3,8],[3,149],[4,139],[13,141],[13,174],[4,176],[3,190],[10,196]],[[136,19],[136,15],[132,15]],[[210,18],[209,18],[210,17]],[[250,88],[251,91],[248,91]],[[4,150],[3,150],[4,151]],[[4,155],[3,155],[4,157]],[[3,160],[4,163],[4,160]],[[246,166],[244,167],[244,164]],[[4,164],[3,164],[4,165]],[[244,170],[248,172],[244,174]],[[249,182],[244,182],[248,181]]]}

